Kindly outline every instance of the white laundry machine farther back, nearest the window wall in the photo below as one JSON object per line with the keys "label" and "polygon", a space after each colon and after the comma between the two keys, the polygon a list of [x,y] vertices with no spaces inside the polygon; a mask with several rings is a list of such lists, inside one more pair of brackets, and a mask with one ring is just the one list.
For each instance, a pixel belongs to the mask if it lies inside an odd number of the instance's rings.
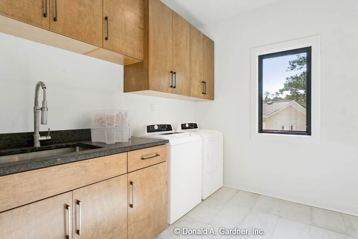
{"label": "white laundry machine farther back, nearest the window wall", "polygon": [[197,123],[178,125],[176,132],[198,134],[202,147],[202,199],[223,186],[223,134],[218,130],[199,129]]}

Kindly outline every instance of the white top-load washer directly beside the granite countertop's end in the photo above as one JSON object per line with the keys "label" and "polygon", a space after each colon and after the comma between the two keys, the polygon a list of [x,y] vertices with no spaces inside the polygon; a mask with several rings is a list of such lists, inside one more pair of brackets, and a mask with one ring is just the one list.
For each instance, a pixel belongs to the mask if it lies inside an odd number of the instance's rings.
{"label": "white top-load washer directly beside the granite countertop's end", "polygon": [[146,125],[142,137],[168,139],[168,223],[192,210],[202,199],[202,140],[177,133],[171,124]]}

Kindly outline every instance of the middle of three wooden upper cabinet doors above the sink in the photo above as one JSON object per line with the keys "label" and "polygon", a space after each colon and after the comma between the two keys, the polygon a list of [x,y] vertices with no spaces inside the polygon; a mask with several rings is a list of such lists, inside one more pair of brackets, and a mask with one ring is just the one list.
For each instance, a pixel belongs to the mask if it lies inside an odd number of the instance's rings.
{"label": "middle of three wooden upper cabinet doors above the sink", "polygon": [[98,47],[103,46],[102,0],[50,0],[50,2],[51,31]]}

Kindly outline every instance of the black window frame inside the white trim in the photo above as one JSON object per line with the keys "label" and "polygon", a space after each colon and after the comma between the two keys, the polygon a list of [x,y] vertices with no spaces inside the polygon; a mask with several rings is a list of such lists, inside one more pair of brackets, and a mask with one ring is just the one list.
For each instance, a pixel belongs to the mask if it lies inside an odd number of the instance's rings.
{"label": "black window frame inside the white trim", "polygon": [[[262,63],[263,59],[287,56],[292,54],[306,53],[306,131],[299,130],[274,130],[262,129],[262,106],[263,106],[263,86],[262,86]],[[311,59],[312,47],[297,48],[288,51],[269,53],[258,56],[258,133],[264,134],[291,134],[291,135],[311,135]]]}

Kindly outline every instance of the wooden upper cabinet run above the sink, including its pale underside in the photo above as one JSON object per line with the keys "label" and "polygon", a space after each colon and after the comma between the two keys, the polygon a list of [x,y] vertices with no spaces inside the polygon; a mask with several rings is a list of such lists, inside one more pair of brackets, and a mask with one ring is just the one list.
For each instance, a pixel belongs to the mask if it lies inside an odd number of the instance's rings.
{"label": "wooden upper cabinet run above the sink, including its pale underside", "polygon": [[127,65],[144,59],[143,0],[0,0],[0,32]]}

